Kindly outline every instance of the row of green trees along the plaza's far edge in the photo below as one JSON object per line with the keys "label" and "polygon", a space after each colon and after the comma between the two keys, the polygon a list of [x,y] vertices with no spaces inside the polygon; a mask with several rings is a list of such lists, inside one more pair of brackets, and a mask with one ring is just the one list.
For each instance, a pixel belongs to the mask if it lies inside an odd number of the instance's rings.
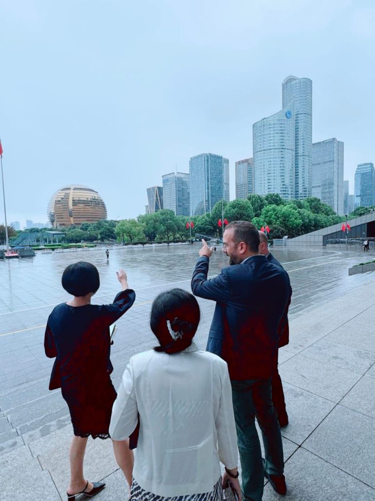
{"label": "row of green trees along the plaza's far edge", "polygon": [[[222,214],[223,207],[223,214]],[[372,207],[358,207],[348,218],[358,217],[370,212]],[[269,193],[265,196],[249,195],[247,199],[236,199],[231,202],[217,202],[210,214],[201,216],[176,216],[172,210],[159,210],[152,214],[142,214],[133,219],[120,221],[102,220],[95,223],[83,223],[79,228],[61,228],[66,232],[66,242],[110,241],[122,243],[145,243],[160,241],[186,241],[190,236],[186,223],[192,221],[195,233],[212,237],[221,236],[219,219],[230,221],[251,221],[258,229],[268,225],[269,238],[282,238],[284,235],[294,237],[330,226],[345,220],[337,215],[331,207],[322,203],[319,198],[307,197],[303,200],[283,200],[280,195]],[[0,242],[5,228],[0,226]],[[15,236],[13,228],[12,235]],[[31,228],[26,231],[47,231],[48,228]],[[17,234],[20,231],[16,232]],[[5,236],[3,235],[3,238]],[[62,241],[62,240],[60,240]]]}

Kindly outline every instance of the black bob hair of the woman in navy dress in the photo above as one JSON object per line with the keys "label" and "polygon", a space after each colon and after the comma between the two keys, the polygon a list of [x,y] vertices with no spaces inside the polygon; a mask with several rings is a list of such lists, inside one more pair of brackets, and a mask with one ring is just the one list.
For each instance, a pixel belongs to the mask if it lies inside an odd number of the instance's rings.
{"label": "black bob hair of the woman in navy dress", "polygon": [[95,292],[100,285],[99,272],[85,261],[78,261],[65,268],[61,278],[61,285],[72,296],[85,296]]}

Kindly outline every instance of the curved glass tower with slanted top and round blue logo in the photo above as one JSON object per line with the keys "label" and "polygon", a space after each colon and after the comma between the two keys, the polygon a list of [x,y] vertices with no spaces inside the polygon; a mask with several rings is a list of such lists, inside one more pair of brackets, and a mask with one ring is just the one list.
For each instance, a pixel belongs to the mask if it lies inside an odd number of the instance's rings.
{"label": "curved glass tower with slanted top and round blue logo", "polygon": [[293,104],[252,126],[254,192],[294,198]]}

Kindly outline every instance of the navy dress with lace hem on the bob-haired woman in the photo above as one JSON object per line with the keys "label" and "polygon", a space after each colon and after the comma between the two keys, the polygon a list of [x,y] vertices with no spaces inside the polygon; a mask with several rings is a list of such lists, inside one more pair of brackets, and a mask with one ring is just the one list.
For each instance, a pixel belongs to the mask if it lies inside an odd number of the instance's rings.
{"label": "navy dress with lace hem on the bob-haired woman", "polygon": [[57,305],[48,317],[44,350],[56,357],[49,389],[61,388],[74,435],[109,438],[109,422],[116,391],[109,374],[109,326],[134,303],[131,289],[122,291],[111,305]]}

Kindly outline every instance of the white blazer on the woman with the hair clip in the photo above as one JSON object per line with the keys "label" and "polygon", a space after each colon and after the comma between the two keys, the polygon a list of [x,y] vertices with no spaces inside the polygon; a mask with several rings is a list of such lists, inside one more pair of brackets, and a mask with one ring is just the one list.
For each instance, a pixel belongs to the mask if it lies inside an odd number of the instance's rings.
{"label": "white blazer on the woman with the hair clip", "polygon": [[168,355],[154,350],[131,357],[113,404],[109,434],[139,437],[133,477],[160,496],[209,492],[219,460],[237,466],[237,438],[226,362],[198,350]]}

